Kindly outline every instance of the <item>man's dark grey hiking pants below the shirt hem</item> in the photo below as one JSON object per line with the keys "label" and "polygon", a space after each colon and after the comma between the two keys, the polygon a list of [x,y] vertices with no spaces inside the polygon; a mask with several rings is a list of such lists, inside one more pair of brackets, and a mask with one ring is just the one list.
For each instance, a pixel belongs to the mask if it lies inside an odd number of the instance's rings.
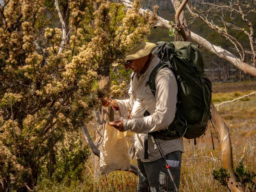
{"label": "man's dark grey hiking pants below the shirt hem", "polygon": [[[174,151],[165,155],[166,159],[179,161],[178,167],[171,167],[171,173],[174,177],[175,184],[178,188],[180,184],[180,168],[181,168],[181,151]],[[138,192],[174,192],[174,185],[171,182],[169,174],[165,169],[163,159],[160,158],[152,162],[138,163]]]}

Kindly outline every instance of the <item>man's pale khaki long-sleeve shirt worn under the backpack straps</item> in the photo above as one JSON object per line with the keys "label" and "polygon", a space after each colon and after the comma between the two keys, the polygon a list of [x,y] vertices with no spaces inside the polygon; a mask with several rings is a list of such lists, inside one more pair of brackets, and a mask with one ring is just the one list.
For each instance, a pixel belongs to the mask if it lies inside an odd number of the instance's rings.
{"label": "man's pale khaki long-sleeve shirt worn under the backpack straps", "polygon": [[[142,162],[155,161],[161,158],[154,138],[147,133],[167,128],[174,120],[177,103],[177,81],[171,70],[161,69],[156,75],[156,94],[152,94],[147,81],[152,70],[158,65],[160,59],[154,57],[146,72],[140,77],[132,74],[130,84],[130,98],[127,100],[116,100],[120,115],[124,119],[124,131],[130,130],[135,133],[134,148],[135,156]],[[132,109],[128,118],[129,108]],[[145,111],[149,116],[143,116]],[[144,141],[148,137],[148,159],[144,159]],[[159,139],[161,149],[166,155],[173,151],[184,151],[182,137],[173,140]]]}

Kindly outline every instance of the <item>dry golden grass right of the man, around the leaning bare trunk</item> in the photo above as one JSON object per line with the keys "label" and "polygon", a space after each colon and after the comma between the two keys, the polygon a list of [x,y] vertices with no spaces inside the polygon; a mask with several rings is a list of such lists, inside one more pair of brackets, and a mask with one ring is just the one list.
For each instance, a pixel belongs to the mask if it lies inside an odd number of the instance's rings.
{"label": "dry golden grass right of the man, around the leaning bare trunk", "polygon": [[[246,92],[225,92],[213,94],[213,100],[221,97],[221,101],[234,99],[248,94]],[[223,116],[226,125],[230,130],[230,137],[233,148],[234,166],[236,167],[242,159],[250,171],[256,171],[256,96],[249,100],[226,103],[219,107],[219,113]],[[214,132],[215,150],[212,149],[210,129]],[[182,177],[180,191],[182,192],[221,192],[227,191],[213,179],[211,173],[214,169],[222,166],[221,146],[218,143],[213,127],[208,127],[206,135],[197,140],[197,145],[184,140],[185,153],[182,157]]]}

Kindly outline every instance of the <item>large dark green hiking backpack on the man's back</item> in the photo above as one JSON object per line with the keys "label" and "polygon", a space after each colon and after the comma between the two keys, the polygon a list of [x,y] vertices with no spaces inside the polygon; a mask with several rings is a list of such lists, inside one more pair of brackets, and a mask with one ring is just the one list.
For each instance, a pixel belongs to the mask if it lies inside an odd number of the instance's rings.
{"label": "large dark green hiking backpack on the man's back", "polygon": [[193,139],[204,135],[211,119],[211,81],[204,73],[200,50],[191,42],[160,41],[153,54],[161,59],[148,81],[153,94],[156,91],[156,74],[164,67],[173,71],[178,84],[174,121],[168,129],[156,131],[157,137],[165,140],[181,136]]}

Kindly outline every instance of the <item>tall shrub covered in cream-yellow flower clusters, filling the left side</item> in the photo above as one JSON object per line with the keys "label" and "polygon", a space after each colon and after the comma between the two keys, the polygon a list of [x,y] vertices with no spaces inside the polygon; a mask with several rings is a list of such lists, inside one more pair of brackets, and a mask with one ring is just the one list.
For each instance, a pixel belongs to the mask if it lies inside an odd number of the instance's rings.
{"label": "tall shrub covered in cream-yellow flower clusters, filling the left side", "polygon": [[[145,39],[156,14],[140,17],[135,0],[119,21],[119,4],[70,0],[67,41],[62,29],[39,26],[44,8],[43,0],[0,5],[0,183],[5,191],[33,190],[46,157],[50,174],[81,174],[88,151],[70,133],[80,134],[108,95],[109,86],[95,89],[95,83]],[[116,88],[112,92],[120,95]],[[52,163],[60,167],[54,170]]]}

